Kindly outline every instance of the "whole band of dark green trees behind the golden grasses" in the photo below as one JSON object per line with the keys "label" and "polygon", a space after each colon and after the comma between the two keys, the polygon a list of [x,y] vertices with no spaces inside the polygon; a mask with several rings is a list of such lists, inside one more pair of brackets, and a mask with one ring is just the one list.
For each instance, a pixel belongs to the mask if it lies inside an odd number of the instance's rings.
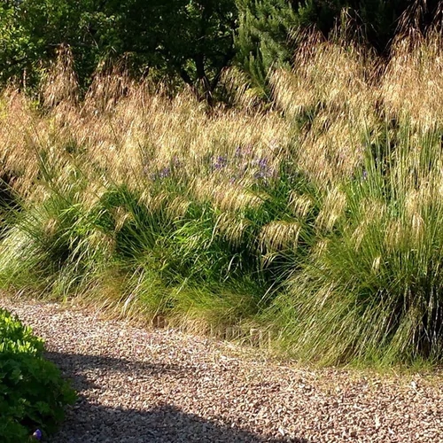
{"label": "whole band of dark green trees behind the golden grasses", "polygon": [[[271,66],[291,62],[299,30],[323,35],[345,19],[387,52],[401,24],[441,19],[438,0],[4,0],[0,4],[0,82],[35,85],[60,45],[74,53],[83,86],[97,67],[119,62],[137,78],[167,75],[211,99],[235,64],[267,93]],[[407,15],[403,17],[403,14]],[[236,43],[234,44],[234,40]]]}

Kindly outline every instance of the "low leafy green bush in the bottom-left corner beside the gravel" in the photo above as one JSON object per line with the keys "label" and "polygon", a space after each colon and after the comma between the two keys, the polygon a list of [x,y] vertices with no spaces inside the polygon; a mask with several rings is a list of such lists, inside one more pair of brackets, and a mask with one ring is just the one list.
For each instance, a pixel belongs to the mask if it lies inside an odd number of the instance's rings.
{"label": "low leafy green bush in the bottom-left corner beside the gravel", "polygon": [[36,429],[54,431],[74,392],[43,358],[43,340],[0,309],[0,439],[25,442]]}

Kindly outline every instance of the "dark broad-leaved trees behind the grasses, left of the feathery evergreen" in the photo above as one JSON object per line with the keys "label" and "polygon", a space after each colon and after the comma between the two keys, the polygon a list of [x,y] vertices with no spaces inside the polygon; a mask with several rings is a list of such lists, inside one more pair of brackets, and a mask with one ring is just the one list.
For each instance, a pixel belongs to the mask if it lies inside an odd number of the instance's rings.
{"label": "dark broad-leaved trees behind the grasses, left of the feathery evergreen", "polygon": [[0,11],[4,77],[8,66],[32,70],[66,44],[84,82],[100,61],[125,56],[133,71],[177,75],[210,95],[234,57],[233,0],[23,0]]}

